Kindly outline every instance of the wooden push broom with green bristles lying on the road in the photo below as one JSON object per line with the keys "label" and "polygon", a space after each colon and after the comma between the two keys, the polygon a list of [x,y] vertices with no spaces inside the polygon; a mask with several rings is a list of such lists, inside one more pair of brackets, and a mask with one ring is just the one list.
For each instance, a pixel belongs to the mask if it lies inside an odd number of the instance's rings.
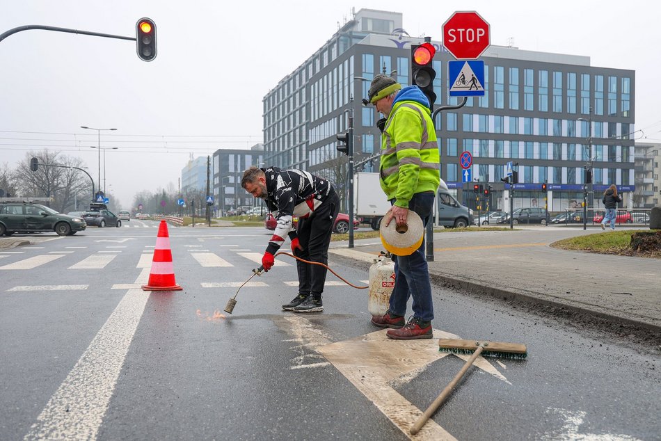
{"label": "wooden push broom with green bristles lying on the road", "polygon": [[445,401],[447,396],[452,392],[454,387],[459,383],[459,380],[463,375],[468,371],[468,368],[475,362],[475,360],[482,355],[483,357],[500,357],[500,358],[510,358],[513,360],[523,360],[527,356],[527,350],[525,344],[518,343],[501,343],[501,342],[475,342],[474,340],[461,340],[461,339],[438,339],[438,347],[442,352],[452,352],[460,354],[470,354],[470,358],[461,368],[449,385],[445,387],[443,392],[440,392],[440,395],[429,405],[427,410],[413,423],[411,429],[411,435],[415,435],[420,432],[424,423],[426,423],[433,412],[436,412],[436,409]]}

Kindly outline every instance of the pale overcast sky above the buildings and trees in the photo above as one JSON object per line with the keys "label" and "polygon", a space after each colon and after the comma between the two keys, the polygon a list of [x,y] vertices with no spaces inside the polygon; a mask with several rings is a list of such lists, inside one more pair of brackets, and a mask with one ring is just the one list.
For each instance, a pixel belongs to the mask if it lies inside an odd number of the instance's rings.
{"label": "pale overcast sky above the buildings and trees", "polygon": [[[418,8],[424,4],[427,10]],[[456,3],[459,5],[459,3]],[[351,8],[403,13],[413,37],[440,41],[454,10],[477,10],[491,44],[591,57],[636,71],[635,128],[661,142],[659,17],[655,1],[136,1],[0,0],[0,33],[41,24],[135,36],[157,24],[158,56],[132,41],[22,31],[0,42],[0,164],[29,150],[79,156],[97,181],[102,131],[106,190],[129,209],[138,191],[177,179],[191,154],[262,141],[262,97],[351,17]],[[103,165],[102,165],[103,168]],[[102,182],[103,184],[103,182]]]}

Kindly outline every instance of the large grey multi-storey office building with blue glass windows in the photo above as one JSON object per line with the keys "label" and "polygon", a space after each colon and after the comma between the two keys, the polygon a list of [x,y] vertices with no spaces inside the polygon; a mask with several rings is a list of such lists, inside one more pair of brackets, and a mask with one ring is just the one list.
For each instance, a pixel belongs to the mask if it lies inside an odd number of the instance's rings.
{"label": "large grey multi-storey office building with blue glass windows", "polygon": [[[347,162],[337,152],[335,135],[353,116],[357,170],[373,171],[381,134],[373,106],[363,107],[369,81],[385,72],[402,86],[411,83],[411,45],[422,43],[402,29],[402,16],[360,10],[326,45],[263,99],[264,156],[269,164],[298,167],[325,175],[342,191]],[[438,106],[459,104],[449,98],[447,62],[454,60],[440,42],[433,81]],[[518,163],[514,207],[543,207],[541,184],[548,183],[549,209],[580,204],[586,168],[600,195],[616,184],[625,195],[635,191],[635,72],[594,67],[588,56],[524,51],[491,46],[485,63],[484,97],[469,97],[460,109],[436,114],[440,175],[459,200],[472,205],[462,182],[459,156],[473,157],[472,177],[492,186],[491,207],[509,207],[500,180],[505,164]],[[470,184],[472,193],[472,184]],[[592,198],[589,198],[591,205]],[[601,198],[594,198],[594,207]],[[541,201],[541,202],[540,202]],[[474,201],[473,201],[474,203]]]}

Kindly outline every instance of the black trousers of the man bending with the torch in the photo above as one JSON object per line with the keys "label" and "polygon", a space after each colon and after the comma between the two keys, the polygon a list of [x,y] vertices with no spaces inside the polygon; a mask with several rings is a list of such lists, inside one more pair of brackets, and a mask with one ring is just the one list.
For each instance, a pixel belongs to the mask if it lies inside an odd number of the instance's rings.
{"label": "black trousers of the man bending with the torch", "polygon": [[[328,246],[330,235],[333,234],[333,224],[340,210],[340,198],[333,191],[328,199],[312,213],[307,219],[298,219],[296,234],[303,251],[296,255],[310,262],[320,262],[328,265]],[[312,294],[321,297],[326,283],[326,268],[321,265],[312,265],[296,260],[298,271],[298,293]]]}

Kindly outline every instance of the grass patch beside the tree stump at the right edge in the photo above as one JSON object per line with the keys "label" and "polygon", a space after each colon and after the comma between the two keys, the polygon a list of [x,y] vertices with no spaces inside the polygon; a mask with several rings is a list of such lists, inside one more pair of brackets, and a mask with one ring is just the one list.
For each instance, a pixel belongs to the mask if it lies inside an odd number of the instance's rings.
{"label": "grass patch beside the tree stump at the right edge", "polygon": [[661,252],[638,252],[630,248],[631,235],[640,230],[618,230],[614,232],[603,232],[588,234],[587,236],[571,237],[551,243],[552,247],[562,250],[578,250],[598,252],[600,254],[612,254],[621,256],[655,257],[661,258]]}

